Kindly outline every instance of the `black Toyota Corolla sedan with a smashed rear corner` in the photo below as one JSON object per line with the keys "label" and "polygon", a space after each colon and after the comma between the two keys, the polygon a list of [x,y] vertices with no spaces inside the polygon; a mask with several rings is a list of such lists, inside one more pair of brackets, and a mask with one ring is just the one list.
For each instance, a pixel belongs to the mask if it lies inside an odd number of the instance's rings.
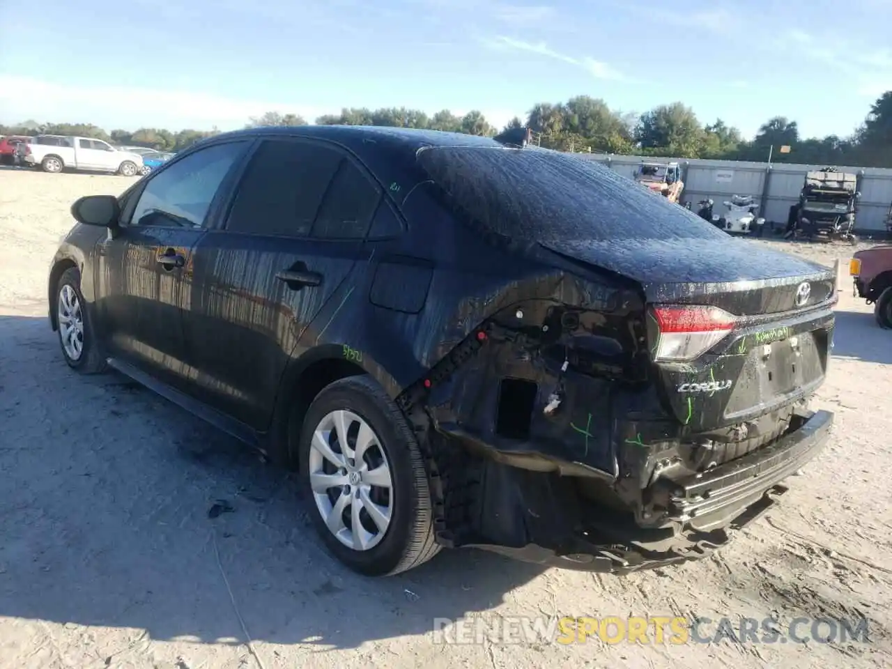
{"label": "black Toyota Corolla sedan with a smashed rear corner", "polygon": [[702,558],[814,458],[830,268],[573,154],[406,128],[213,136],[72,205],[49,314],[300,472],[362,574],[476,546]]}

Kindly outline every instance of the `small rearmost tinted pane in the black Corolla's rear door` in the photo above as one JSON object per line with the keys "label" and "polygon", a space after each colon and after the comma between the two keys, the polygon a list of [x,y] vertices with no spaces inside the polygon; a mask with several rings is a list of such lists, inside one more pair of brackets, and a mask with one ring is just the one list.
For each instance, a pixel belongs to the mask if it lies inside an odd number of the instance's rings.
{"label": "small rearmost tinted pane in the black Corolla's rear door", "polygon": [[343,158],[328,186],[311,236],[320,239],[363,239],[375,215],[381,190],[352,161]]}

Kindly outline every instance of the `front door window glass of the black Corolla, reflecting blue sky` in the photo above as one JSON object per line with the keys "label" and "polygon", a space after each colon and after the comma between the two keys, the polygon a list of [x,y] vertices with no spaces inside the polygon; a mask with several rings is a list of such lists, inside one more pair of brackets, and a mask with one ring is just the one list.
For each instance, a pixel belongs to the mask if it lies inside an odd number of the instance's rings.
{"label": "front door window glass of the black Corolla, reflecting blue sky", "polygon": [[159,171],[139,195],[130,225],[202,227],[214,195],[244,148],[244,142],[208,146]]}

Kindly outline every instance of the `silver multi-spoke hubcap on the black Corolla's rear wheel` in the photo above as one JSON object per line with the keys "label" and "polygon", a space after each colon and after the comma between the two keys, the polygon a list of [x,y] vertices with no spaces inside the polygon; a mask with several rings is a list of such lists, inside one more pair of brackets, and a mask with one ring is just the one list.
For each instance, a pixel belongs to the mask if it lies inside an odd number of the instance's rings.
{"label": "silver multi-spoke hubcap on the black Corolla's rear wheel", "polygon": [[353,550],[374,548],[393,513],[390,463],[375,431],[351,411],[319,421],[310,443],[310,487],[329,532]]}

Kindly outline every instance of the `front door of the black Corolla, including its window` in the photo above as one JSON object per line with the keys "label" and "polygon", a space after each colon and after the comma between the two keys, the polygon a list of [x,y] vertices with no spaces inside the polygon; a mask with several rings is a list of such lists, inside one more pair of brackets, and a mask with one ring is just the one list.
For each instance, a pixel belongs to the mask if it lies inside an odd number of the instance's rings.
{"label": "front door of the black Corolla, including its window", "polygon": [[192,283],[193,249],[246,145],[210,145],[147,178],[124,203],[120,227],[97,249],[97,312],[106,352],[178,389],[189,377],[181,311]]}

